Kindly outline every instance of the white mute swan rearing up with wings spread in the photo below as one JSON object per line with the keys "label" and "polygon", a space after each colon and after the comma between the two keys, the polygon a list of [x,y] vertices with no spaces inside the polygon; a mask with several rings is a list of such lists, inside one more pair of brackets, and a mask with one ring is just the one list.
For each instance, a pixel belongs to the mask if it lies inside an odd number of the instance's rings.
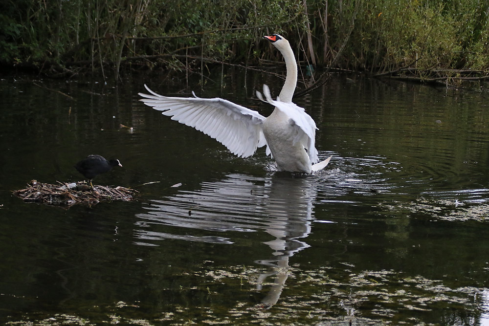
{"label": "white mute swan rearing up with wings spread", "polygon": [[[303,108],[292,103],[297,63],[289,41],[278,34],[264,38],[282,53],[287,69],[284,86],[276,101],[271,99],[269,89],[264,85],[267,102],[275,106],[267,118],[221,98],[200,98],[193,92],[194,97],[168,97],[155,93],[146,85],[144,87],[152,95],[138,93],[144,97],[140,101],[171,116],[172,120],[211,136],[239,157],[251,156],[258,147],[267,145],[267,155],[272,155],[279,171],[311,174],[326,167],[331,157],[316,163],[316,124]],[[263,100],[259,92],[257,96]]]}

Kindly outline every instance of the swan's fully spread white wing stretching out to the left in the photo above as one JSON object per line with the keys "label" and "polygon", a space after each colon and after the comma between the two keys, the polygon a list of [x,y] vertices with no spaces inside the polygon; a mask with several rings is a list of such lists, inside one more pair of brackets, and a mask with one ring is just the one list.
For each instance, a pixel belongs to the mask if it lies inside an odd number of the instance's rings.
{"label": "swan's fully spread white wing stretching out to the left", "polygon": [[139,93],[144,97],[140,101],[211,136],[233,154],[248,157],[267,144],[262,131],[265,117],[257,111],[221,98],[168,97],[144,87],[152,95]]}

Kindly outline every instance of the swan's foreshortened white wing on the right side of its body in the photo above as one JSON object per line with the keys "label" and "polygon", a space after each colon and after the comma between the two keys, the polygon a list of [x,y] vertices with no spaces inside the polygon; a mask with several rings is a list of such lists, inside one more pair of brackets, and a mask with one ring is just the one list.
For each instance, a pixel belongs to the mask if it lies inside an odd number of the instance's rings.
{"label": "swan's foreshortened white wing on the right side of its body", "polygon": [[[263,93],[265,94],[265,98],[268,103],[287,114],[294,122],[295,126],[297,127],[297,137],[294,139],[294,142],[300,141],[304,138],[304,136],[307,136],[307,142],[304,144],[304,147],[308,151],[311,163],[317,162],[319,160],[315,147],[317,127],[311,116],[306,113],[304,108],[301,108],[292,102],[281,102],[279,98],[277,98],[276,101],[273,100],[270,96],[270,89],[267,85],[263,85]],[[256,96],[264,101],[263,96],[259,91],[256,92]]]}

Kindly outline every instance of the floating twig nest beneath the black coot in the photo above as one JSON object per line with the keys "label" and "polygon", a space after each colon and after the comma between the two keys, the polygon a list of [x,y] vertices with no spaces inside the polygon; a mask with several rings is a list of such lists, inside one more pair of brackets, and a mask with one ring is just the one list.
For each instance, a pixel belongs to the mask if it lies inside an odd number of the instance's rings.
{"label": "floating twig nest beneath the black coot", "polygon": [[94,185],[93,189],[85,181],[57,185],[32,180],[27,188],[14,191],[14,195],[24,202],[36,202],[46,205],[71,206],[75,204],[95,205],[102,201],[131,201],[137,191],[121,186],[111,188]]}

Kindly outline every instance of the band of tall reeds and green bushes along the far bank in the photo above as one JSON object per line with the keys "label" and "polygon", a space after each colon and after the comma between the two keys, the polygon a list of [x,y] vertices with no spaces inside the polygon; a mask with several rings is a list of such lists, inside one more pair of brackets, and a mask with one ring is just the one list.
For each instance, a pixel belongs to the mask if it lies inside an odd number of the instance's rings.
{"label": "band of tall reeds and green bushes along the far bank", "polygon": [[[0,62],[50,75],[278,59],[371,74],[489,68],[487,0],[3,0]],[[412,71],[414,71],[412,70]]]}

